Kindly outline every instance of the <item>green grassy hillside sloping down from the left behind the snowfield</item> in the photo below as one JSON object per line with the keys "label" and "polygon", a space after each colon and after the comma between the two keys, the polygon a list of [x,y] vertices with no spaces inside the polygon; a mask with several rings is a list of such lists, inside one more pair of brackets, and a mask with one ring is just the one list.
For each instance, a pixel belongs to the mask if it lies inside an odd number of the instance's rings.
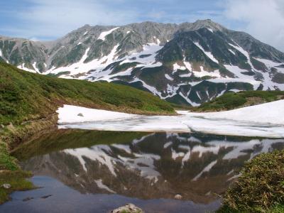
{"label": "green grassy hillside sloping down from the left behind the snowfield", "polygon": [[58,79],[0,62],[0,124],[43,118],[62,104],[138,114],[174,113],[168,102],[132,87]]}

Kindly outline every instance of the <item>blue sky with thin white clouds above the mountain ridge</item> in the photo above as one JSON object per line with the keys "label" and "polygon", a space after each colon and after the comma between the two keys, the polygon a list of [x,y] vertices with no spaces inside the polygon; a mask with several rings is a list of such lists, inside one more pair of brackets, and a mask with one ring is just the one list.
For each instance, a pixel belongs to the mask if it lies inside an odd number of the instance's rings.
{"label": "blue sky with thin white clouds above the mountain ridge", "polygon": [[1,0],[0,35],[54,40],[84,24],[211,18],[284,50],[283,0]]}

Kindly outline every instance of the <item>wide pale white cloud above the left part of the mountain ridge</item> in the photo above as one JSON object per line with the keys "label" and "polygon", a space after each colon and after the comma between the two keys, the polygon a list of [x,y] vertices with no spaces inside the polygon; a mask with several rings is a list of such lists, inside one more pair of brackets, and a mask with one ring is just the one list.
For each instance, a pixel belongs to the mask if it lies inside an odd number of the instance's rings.
{"label": "wide pale white cloud above the left part of the mountain ridge", "polygon": [[21,21],[28,23],[23,37],[58,37],[84,24],[121,25],[131,22],[135,11],[121,12],[100,1],[92,0],[28,0],[31,6],[17,11]]}

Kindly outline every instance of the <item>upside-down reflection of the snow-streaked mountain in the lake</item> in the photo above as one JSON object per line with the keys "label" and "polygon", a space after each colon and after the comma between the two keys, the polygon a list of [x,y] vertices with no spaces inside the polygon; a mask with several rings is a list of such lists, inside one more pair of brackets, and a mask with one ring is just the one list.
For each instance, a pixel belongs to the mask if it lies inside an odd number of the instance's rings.
{"label": "upside-down reflection of the snow-streaked mountain in the lake", "polygon": [[65,149],[23,162],[80,192],[209,203],[224,192],[244,161],[284,146],[282,139],[151,133],[127,144]]}

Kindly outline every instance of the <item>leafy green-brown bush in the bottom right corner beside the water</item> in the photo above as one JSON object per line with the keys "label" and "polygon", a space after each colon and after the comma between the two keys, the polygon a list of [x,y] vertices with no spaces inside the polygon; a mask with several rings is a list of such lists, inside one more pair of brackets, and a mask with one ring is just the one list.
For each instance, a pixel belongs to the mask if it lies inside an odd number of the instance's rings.
{"label": "leafy green-brown bush in the bottom right corner beside the water", "polygon": [[284,212],[283,168],[284,151],[253,158],[226,191],[219,212]]}

